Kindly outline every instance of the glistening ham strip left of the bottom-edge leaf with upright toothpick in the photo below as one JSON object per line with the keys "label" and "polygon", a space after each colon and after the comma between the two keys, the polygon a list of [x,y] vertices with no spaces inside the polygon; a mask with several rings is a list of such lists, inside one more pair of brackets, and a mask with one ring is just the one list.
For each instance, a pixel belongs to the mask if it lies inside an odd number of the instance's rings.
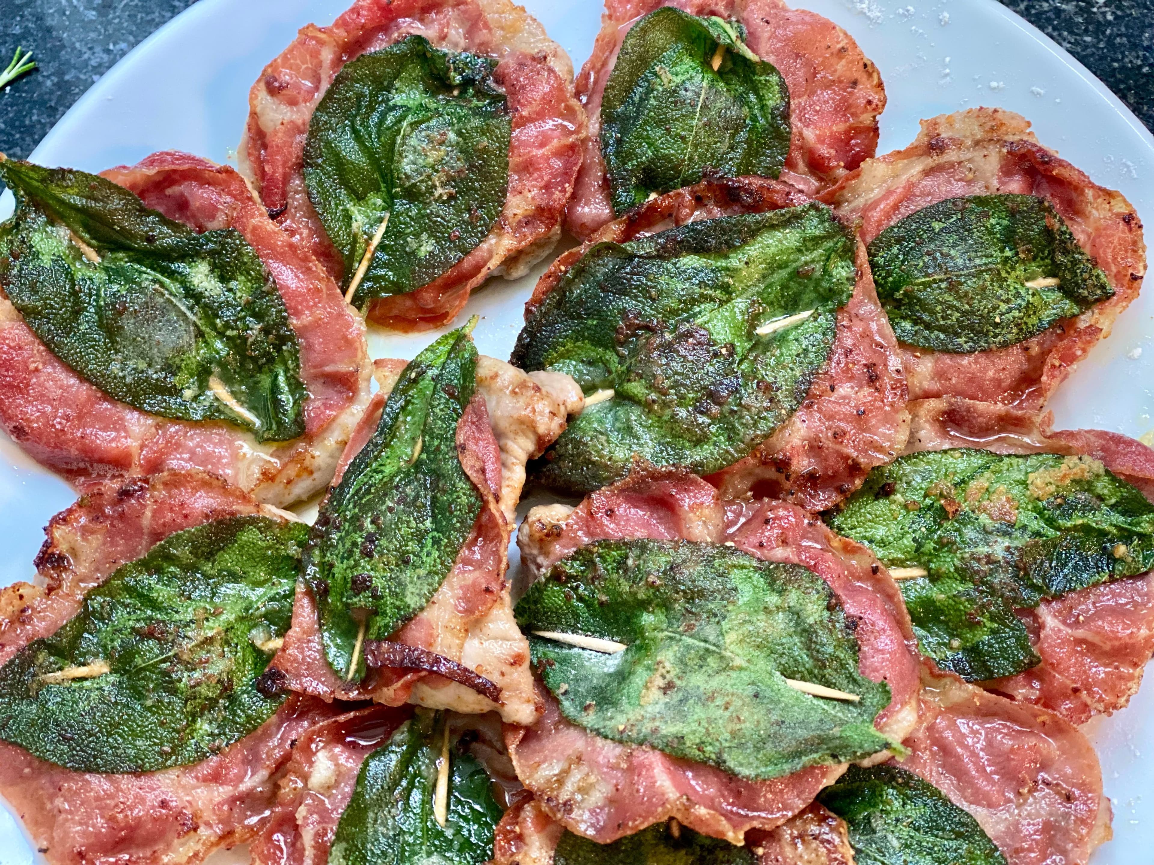
{"label": "glistening ham strip left of the bottom-edge leaf with upright toothpick", "polygon": [[361,764],[409,714],[384,706],[357,708],[300,735],[280,775],[272,817],[249,844],[255,865],[328,865]]}

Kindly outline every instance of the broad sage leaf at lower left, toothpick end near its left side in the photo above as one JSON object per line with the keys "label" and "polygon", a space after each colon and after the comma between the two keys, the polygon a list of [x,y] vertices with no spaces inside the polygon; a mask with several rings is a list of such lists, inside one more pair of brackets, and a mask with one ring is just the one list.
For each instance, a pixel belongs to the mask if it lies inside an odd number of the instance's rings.
{"label": "broad sage leaf at lower left, toothpick end near its left side", "polygon": [[230,517],[170,535],[0,668],[0,739],[77,772],[198,762],[284,700],[261,678],[308,527]]}

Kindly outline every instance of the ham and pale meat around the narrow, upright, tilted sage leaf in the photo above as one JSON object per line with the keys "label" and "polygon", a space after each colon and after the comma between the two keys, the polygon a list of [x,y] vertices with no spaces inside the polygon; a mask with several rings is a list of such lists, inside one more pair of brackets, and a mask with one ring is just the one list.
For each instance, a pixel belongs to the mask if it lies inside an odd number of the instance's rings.
{"label": "ham and pale meat around the narrow, upright, tilted sage leaf", "polygon": [[[342,457],[338,481],[372,437],[404,367],[403,361],[377,362],[381,390]],[[568,414],[579,411],[582,403],[580,389],[568,376],[530,376],[503,361],[479,358],[477,394],[458,423],[457,449],[485,505],[441,588],[426,609],[394,635],[396,642],[448,659],[455,667],[440,672],[385,667],[366,685],[350,686],[324,657],[316,607],[301,584],[292,627],[272,660],[272,665],[288,676],[291,687],[325,700],[373,699],[390,706],[414,702],[465,713],[495,709],[511,723],[532,723],[538,706],[529,644],[514,620],[504,578],[509,526],[520,498],[525,461],[544,452],[564,429]],[[473,690],[470,672],[500,689],[500,705],[492,694]],[[449,677],[454,675],[457,680]]]}

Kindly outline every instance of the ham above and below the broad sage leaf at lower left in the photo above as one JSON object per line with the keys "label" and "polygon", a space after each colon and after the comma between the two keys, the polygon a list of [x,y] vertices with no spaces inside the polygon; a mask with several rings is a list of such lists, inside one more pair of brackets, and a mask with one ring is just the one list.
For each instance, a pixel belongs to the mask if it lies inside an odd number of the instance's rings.
{"label": "ham above and below the broad sage leaf at lower left", "polygon": [[[253,513],[278,514],[203,472],[95,484],[48,525],[36,585],[0,592],[0,663],[54,633],[89,589],[172,533]],[[293,742],[329,714],[320,700],[291,695],[218,755],[141,774],[72,772],[0,743],[0,795],[52,865],[196,863],[255,835]]]}

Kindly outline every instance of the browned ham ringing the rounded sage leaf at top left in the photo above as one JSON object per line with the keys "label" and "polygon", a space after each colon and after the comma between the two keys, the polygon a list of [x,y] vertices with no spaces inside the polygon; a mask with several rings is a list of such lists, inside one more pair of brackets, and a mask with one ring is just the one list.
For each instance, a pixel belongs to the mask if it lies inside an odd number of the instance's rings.
{"label": "browned ham ringing the rounded sage leaf at top left", "polygon": [[369,318],[397,330],[447,324],[488,277],[517,278],[553,248],[586,127],[569,57],[509,0],[358,0],[331,25],[302,28],[249,91],[241,171],[277,224],[336,279],[344,265],[305,188],[309,120],[345,63],[413,35],[500,61],[494,77],[509,100],[512,140],[504,210],[488,236],[428,285],[372,303]]}

